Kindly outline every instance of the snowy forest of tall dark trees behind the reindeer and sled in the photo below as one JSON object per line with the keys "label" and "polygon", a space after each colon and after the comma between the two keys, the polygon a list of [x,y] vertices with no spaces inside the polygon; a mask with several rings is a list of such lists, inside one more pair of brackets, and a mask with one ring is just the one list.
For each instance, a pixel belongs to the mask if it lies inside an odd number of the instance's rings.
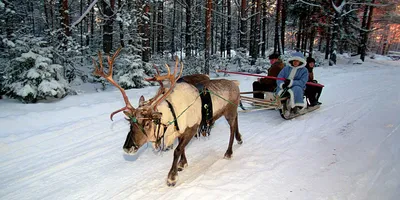
{"label": "snowy forest of tall dark trees behind the reindeer and sled", "polygon": [[[178,56],[184,74],[228,65],[265,72],[272,52],[324,52],[362,63],[399,59],[399,0],[0,0],[0,98],[24,103],[78,94],[107,84],[92,75],[98,52],[122,52],[114,79],[125,89],[151,83],[153,65]],[[285,54],[286,53],[286,54]],[[106,66],[106,56],[102,61]],[[250,66],[250,67],[249,67]]]}

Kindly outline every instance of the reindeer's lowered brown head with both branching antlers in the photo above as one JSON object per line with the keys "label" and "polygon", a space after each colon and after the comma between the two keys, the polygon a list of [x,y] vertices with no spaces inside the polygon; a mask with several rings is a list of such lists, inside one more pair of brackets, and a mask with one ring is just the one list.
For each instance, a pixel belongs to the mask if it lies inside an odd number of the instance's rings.
{"label": "reindeer's lowered brown head with both branching antlers", "polygon": [[[153,78],[146,80],[157,81],[160,83],[160,88],[158,89],[157,94],[148,101],[145,101],[144,97],[141,96],[139,99],[138,108],[134,108],[129,102],[125,90],[112,79],[114,59],[118,55],[120,50],[121,49],[118,49],[112,56],[112,58],[108,57],[108,65],[109,65],[108,74],[104,73],[101,53],[99,52],[98,54],[100,68],[97,67],[96,62],[93,59],[95,65],[94,74],[105,78],[115,87],[117,87],[121,91],[125,101],[125,107],[111,113],[110,119],[112,120],[113,116],[116,113],[123,111],[123,113],[127,117],[126,120],[129,121],[130,130],[126,137],[125,144],[123,146],[123,149],[126,153],[128,154],[136,153],[137,150],[147,142],[152,142],[153,146],[155,148],[158,148],[160,146],[160,142],[165,132],[165,129],[167,128],[168,125],[161,123],[162,113],[158,112],[157,107],[172,92],[176,80],[178,80],[179,77],[182,75],[183,64],[181,63],[181,69],[178,76],[176,76],[176,73],[178,71],[178,58],[176,58],[175,69],[173,74],[171,74],[170,68],[167,64],[166,64],[168,70],[167,75],[161,76],[158,69],[156,68],[157,75],[154,76]],[[169,88],[164,87],[162,83],[162,81],[164,80],[168,80],[170,82]]]}

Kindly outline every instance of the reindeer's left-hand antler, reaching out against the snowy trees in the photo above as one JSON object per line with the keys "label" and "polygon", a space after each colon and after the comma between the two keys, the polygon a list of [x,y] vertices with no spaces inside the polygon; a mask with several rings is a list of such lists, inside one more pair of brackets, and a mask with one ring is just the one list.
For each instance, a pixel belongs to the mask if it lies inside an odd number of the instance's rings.
{"label": "reindeer's left-hand antler, reaching out against the snowy trees", "polygon": [[101,76],[103,78],[105,78],[107,81],[109,81],[111,84],[113,84],[115,87],[117,87],[119,89],[119,91],[121,91],[122,93],[122,97],[124,98],[125,101],[125,107],[116,110],[114,112],[111,113],[110,115],[110,119],[112,120],[113,116],[121,111],[125,111],[128,110],[129,113],[133,113],[133,111],[135,110],[135,108],[131,105],[131,103],[129,102],[128,96],[126,96],[125,90],[119,86],[114,79],[112,78],[112,74],[113,74],[113,64],[114,64],[114,60],[115,58],[118,56],[119,52],[121,51],[121,47],[117,49],[117,51],[114,53],[114,55],[110,58],[110,56],[107,56],[107,61],[108,61],[108,74],[104,73],[104,67],[103,67],[103,58],[101,56],[101,52],[99,51],[98,56],[99,56],[99,64],[100,67],[97,67],[96,61],[93,59],[93,64],[94,64],[94,75],[97,76]]}

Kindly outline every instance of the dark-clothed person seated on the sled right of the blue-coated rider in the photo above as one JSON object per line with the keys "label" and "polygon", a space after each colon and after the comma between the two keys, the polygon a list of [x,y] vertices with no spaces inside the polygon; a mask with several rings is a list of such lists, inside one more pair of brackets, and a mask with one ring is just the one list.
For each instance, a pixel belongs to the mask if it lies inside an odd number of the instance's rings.
{"label": "dark-clothed person seated on the sled right of the blue-coated rider", "polygon": [[[315,59],[308,57],[306,68],[308,70],[308,82],[318,83],[317,80],[314,80],[314,69],[315,66]],[[321,104],[318,99],[321,96],[322,87],[307,85],[304,94],[306,95],[309,105],[308,106],[315,106]]]}

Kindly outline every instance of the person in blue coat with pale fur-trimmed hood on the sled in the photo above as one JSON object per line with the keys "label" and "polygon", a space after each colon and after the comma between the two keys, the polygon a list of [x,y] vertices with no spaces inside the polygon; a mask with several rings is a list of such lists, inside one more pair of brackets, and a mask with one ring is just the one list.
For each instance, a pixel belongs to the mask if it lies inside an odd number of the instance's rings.
{"label": "person in blue coat with pale fur-trimmed hood on the sled", "polygon": [[300,52],[295,52],[287,60],[286,66],[278,74],[278,78],[285,80],[277,80],[277,94],[281,95],[285,90],[290,94],[289,106],[295,113],[306,106],[304,102],[304,89],[308,81],[308,70],[305,68],[306,60]]}

